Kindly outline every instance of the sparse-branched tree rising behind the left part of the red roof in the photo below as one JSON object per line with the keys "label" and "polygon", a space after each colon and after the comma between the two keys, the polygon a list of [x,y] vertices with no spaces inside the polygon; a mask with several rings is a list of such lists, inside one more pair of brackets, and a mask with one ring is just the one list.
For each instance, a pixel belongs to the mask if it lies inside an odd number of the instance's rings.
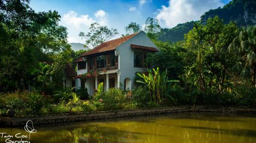
{"label": "sparse-branched tree rising behind the left part of the red roof", "polygon": [[91,24],[89,32],[84,34],[83,32],[79,33],[79,36],[83,39],[86,39],[86,46],[95,48],[101,43],[110,40],[118,34],[117,29],[109,29],[106,26],[100,26],[97,22]]}

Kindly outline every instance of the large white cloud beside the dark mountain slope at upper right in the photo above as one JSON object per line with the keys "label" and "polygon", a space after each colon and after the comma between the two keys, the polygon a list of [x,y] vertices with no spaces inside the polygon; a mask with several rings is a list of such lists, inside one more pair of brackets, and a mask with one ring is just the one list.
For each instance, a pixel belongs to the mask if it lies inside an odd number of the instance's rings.
{"label": "large white cloud beside the dark mountain slope at upper right", "polygon": [[179,23],[199,20],[209,9],[222,7],[221,0],[169,0],[169,6],[162,6],[156,18],[166,27],[174,27]]}

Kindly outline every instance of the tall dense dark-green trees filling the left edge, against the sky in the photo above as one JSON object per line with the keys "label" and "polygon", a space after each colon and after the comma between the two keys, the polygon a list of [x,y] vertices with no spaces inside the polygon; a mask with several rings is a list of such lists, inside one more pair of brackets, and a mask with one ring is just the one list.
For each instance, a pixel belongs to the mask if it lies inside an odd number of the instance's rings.
{"label": "tall dense dark-green trees filling the left edge, against the sky", "polygon": [[35,12],[29,1],[3,1],[0,7],[0,92],[28,89],[38,63],[68,48],[67,29],[56,11]]}

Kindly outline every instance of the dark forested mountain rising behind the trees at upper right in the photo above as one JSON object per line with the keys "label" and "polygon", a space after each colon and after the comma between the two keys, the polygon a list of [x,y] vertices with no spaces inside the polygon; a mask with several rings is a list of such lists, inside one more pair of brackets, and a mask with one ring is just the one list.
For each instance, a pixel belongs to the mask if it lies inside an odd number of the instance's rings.
{"label": "dark forested mountain rising behind the trees at upper right", "polygon": [[[233,0],[223,8],[209,10],[201,16],[202,24],[210,17],[219,16],[225,23],[236,21],[239,26],[256,25],[256,1],[255,0]],[[173,28],[163,28],[158,33],[158,40],[177,42],[184,39],[196,21],[178,24]]]}

